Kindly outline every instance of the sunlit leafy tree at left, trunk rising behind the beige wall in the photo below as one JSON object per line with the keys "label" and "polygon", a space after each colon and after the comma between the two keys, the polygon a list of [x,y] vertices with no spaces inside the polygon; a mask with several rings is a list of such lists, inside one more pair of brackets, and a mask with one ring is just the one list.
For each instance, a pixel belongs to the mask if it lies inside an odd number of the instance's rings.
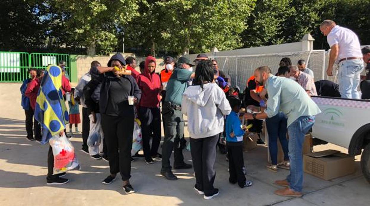
{"label": "sunlit leafy tree at left, trunk rising behind the beige wall", "polygon": [[[51,13],[88,55],[108,54],[117,46],[118,27],[137,15],[138,0],[46,0]],[[53,16],[53,17],[54,17]],[[98,51],[98,52],[96,52]]]}

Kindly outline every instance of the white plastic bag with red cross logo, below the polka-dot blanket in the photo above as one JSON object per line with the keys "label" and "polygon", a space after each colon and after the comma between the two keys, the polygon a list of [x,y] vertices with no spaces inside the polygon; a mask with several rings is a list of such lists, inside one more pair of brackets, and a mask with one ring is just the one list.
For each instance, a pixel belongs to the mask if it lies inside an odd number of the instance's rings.
{"label": "white plastic bag with red cross logo, below the polka-dot blanket", "polygon": [[62,136],[55,135],[51,137],[49,143],[54,155],[53,175],[80,168],[74,153],[74,147],[65,133]]}

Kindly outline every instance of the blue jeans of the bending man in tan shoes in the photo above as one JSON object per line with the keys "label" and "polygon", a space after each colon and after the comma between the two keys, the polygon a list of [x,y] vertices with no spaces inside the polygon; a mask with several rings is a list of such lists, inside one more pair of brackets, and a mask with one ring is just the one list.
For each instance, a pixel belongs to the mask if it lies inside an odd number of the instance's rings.
{"label": "blue jeans of the bending man in tan shoes", "polygon": [[306,133],[315,123],[314,116],[300,116],[288,127],[290,174],[286,177],[290,189],[302,192],[303,158],[302,147]]}

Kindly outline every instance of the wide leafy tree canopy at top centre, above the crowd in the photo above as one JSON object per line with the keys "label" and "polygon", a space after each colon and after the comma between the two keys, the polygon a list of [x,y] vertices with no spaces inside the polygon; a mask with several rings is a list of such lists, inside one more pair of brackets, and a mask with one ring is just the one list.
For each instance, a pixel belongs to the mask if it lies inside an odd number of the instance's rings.
{"label": "wide leafy tree canopy at top centre, above the crowd", "polygon": [[[175,53],[241,46],[239,34],[255,0],[147,1],[127,33],[132,43]],[[138,25],[142,25],[141,27]]]}

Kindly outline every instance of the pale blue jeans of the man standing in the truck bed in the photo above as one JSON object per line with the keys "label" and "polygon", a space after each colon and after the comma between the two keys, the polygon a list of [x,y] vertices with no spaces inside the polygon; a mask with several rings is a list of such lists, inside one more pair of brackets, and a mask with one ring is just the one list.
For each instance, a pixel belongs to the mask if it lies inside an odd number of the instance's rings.
{"label": "pale blue jeans of the man standing in the truck bed", "polygon": [[364,70],[362,59],[344,60],[339,63],[338,83],[342,98],[360,99],[357,88],[360,84],[360,74]]}

